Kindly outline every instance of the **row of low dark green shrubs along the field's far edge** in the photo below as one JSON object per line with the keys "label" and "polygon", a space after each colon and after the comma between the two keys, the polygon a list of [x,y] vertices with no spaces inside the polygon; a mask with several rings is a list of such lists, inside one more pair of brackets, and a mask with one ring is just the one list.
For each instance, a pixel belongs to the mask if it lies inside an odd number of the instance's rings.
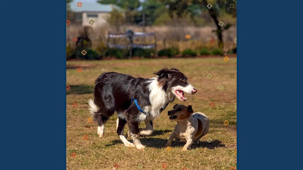
{"label": "row of low dark green shrubs along the field's far edge", "polygon": [[[82,54],[82,50],[86,51],[86,54]],[[66,56],[67,58],[76,58],[76,59],[101,59],[103,57],[111,56],[116,57],[117,59],[124,59],[130,56],[130,51],[125,49],[117,49],[117,48],[105,48],[102,51],[98,52],[92,49],[82,49],[82,50],[73,50],[71,47],[66,47]],[[236,53],[237,49],[233,49],[228,53]],[[155,49],[142,49],[142,48],[134,48],[132,49],[132,56],[145,57],[150,58],[152,55],[155,55]],[[158,56],[168,56],[171,58],[175,55],[180,54],[180,51],[177,47],[166,48],[158,51]],[[208,50],[207,48],[201,48],[192,50],[187,48],[181,52],[183,57],[185,56],[197,56],[200,55],[220,55],[223,56],[223,50],[216,48],[213,50]]]}

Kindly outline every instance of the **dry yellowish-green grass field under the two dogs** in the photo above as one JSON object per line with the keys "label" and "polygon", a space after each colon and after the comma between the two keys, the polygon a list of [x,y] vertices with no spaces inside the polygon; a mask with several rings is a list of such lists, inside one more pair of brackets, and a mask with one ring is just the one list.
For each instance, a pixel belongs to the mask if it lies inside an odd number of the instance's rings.
{"label": "dry yellowish-green grass field under the two dogs", "polygon": [[[108,61],[67,61],[66,83],[71,88],[66,95],[66,166],[67,169],[231,169],[237,165],[237,112],[236,95],[236,58],[227,62],[221,58],[196,59],[142,59],[142,60],[108,60]],[[195,95],[185,94],[187,101],[178,99],[171,104],[153,122],[154,133],[141,136],[145,150],[127,148],[116,133],[114,114],[105,124],[105,136],[99,138],[97,122],[88,122],[87,100],[93,99],[95,79],[103,72],[120,72],[134,77],[154,77],[153,73],[163,66],[177,67],[188,77],[188,82],[198,92]],[[77,72],[81,67],[82,72]],[[208,74],[212,77],[209,79]],[[234,74],[235,78],[230,78]],[[223,90],[219,89],[222,85]],[[74,103],[77,107],[74,107]],[[215,107],[210,104],[214,103]],[[205,113],[210,120],[208,134],[201,143],[192,144],[187,152],[181,152],[185,142],[173,140],[171,150],[165,144],[172,133],[176,122],[169,120],[167,111],[175,104],[192,105],[194,112]],[[224,125],[228,120],[229,124]],[[145,128],[141,123],[140,127]],[[125,126],[125,133],[128,127]],[[88,139],[83,139],[88,135]],[[208,143],[208,139],[212,142]],[[130,138],[128,140],[131,141]],[[76,156],[71,156],[72,153]],[[185,170],[183,168],[183,170]]]}

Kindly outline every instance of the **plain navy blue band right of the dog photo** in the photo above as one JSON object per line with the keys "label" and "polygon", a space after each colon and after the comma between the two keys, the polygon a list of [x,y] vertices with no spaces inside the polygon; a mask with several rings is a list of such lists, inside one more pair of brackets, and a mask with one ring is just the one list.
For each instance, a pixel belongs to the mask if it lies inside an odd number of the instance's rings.
{"label": "plain navy blue band right of the dog photo", "polygon": [[237,1],[239,170],[302,169],[302,6]]}

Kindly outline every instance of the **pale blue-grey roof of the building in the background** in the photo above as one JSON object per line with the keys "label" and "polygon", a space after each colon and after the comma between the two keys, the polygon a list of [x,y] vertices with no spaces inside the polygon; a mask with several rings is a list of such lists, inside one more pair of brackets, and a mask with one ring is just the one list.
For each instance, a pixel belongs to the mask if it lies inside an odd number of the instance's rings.
{"label": "pale blue-grey roof of the building in the background", "polygon": [[120,10],[120,8],[117,5],[104,5],[100,4],[98,2],[83,2],[82,7],[77,6],[77,2],[71,2],[70,4],[71,10],[74,12],[110,12],[113,8],[116,8]]}

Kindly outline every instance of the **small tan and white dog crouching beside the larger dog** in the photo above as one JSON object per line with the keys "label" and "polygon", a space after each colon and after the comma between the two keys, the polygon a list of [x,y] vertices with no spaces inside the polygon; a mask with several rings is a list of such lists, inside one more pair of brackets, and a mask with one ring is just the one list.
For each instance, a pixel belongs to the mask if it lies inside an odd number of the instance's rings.
{"label": "small tan and white dog crouching beside the larger dog", "polygon": [[186,142],[182,151],[187,151],[193,142],[198,142],[208,133],[208,117],[201,112],[193,113],[191,105],[186,107],[176,104],[173,110],[168,111],[169,119],[176,120],[177,125],[167,140],[166,146],[170,146],[171,141],[178,136],[181,141]]}

